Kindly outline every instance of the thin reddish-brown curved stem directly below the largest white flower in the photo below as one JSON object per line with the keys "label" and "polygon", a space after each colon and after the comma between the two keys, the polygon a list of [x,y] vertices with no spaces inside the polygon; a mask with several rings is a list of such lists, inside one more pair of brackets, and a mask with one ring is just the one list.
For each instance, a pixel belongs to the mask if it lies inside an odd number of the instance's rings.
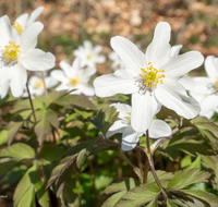
{"label": "thin reddish-brown curved stem directly below the largest white flower", "polygon": [[149,146],[149,133],[148,133],[148,130],[146,131],[146,142],[147,142],[147,160],[148,160],[148,165],[149,165],[149,168],[150,168],[150,171],[153,173],[153,176],[157,183],[157,185],[159,186],[159,188],[161,190],[161,193],[162,195],[165,196],[165,198],[167,199],[168,196],[165,192],[165,188],[162,187],[158,176],[157,176],[157,173],[156,173],[156,170],[155,170],[155,165],[154,165],[154,160],[153,160],[153,155],[150,154],[150,146]]}

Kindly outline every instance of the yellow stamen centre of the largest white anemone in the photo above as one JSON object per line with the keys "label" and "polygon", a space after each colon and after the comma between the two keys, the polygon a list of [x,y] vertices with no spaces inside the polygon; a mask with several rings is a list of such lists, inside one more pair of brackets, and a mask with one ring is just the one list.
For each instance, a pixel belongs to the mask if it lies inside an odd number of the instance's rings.
{"label": "yellow stamen centre of the largest white anemone", "polygon": [[165,77],[164,73],[165,70],[157,70],[153,66],[152,62],[148,63],[147,70],[141,69],[143,74],[141,74],[141,77],[144,80],[144,85],[146,87],[153,88],[157,86],[158,83],[164,84],[162,77]]}

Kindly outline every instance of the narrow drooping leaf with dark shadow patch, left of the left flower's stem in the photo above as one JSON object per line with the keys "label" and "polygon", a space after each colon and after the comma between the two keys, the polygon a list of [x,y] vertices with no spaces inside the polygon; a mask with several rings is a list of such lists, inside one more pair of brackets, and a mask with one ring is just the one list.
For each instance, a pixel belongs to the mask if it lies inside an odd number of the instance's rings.
{"label": "narrow drooping leaf with dark shadow patch, left of the left flower's stem", "polygon": [[10,121],[9,126],[8,126],[8,130],[9,130],[8,145],[11,145],[14,136],[16,135],[21,126],[23,125],[24,120],[28,119],[31,114],[32,114],[32,110],[26,110],[26,111],[21,112],[15,118],[13,118],[12,121]]}

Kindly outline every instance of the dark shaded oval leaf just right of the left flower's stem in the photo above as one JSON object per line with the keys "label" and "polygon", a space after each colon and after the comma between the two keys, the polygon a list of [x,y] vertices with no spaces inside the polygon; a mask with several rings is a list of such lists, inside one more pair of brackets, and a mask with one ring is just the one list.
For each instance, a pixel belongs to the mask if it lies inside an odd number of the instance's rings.
{"label": "dark shaded oval leaf just right of the left flower's stem", "polygon": [[60,148],[58,145],[44,145],[40,149],[39,156],[48,161],[59,161],[61,160],[64,149]]}

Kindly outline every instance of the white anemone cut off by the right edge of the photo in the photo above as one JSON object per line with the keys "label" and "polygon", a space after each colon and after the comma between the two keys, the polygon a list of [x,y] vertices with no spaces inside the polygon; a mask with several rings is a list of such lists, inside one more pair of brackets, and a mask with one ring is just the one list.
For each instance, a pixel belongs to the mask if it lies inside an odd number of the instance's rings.
{"label": "white anemone cut off by the right edge of the photo", "polygon": [[218,112],[218,58],[208,56],[205,60],[207,77],[193,77],[195,87],[190,89],[190,95],[198,100],[201,115],[210,119]]}

